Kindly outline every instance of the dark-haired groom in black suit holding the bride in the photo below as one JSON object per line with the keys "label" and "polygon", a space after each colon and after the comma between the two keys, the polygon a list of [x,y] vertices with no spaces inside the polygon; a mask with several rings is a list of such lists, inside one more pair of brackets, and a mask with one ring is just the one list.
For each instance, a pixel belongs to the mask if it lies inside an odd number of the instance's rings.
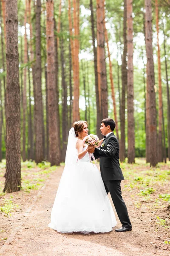
{"label": "dark-haired groom in black suit holding the bride", "polygon": [[120,183],[124,177],[119,164],[119,142],[113,133],[115,126],[113,119],[103,119],[100,131],[105,139],[99,148],[89,145],[88,153],[94,153],[96,159],[100,157],[100,170],[105,189],[107,194],[110,192],[117,215],[122,223],[122,227],[116,229],[116,232],[125,232],[132,230],[132,225],[122,198]]}

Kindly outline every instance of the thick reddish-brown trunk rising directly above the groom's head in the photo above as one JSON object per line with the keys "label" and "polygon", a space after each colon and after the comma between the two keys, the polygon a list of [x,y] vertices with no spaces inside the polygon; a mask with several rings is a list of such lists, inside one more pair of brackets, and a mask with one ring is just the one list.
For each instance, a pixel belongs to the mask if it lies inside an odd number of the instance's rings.
{"label": "thick reddish-brown trunk rising directly above the groom's head", "polygon": [[100,69],[100,89],[101,89],[101,110],[102,119],[108,118],[108,84],[106,78],[105,62],[105,35],[104,35],[104,0],[97,0],[97,44],[99,46],[99,69]]}

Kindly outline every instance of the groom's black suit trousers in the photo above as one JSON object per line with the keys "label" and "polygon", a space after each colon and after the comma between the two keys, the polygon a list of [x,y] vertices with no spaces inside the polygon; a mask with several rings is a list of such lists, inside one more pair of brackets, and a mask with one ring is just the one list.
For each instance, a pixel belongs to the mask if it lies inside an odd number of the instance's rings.
{"label": "groom's black suit trousers", "polygon": [[120,186],[121,180],[107,180],[103,182],[105,184],[107,194],[108,192],[110,192],[111,194],[111,198],[116,209],[117,215],[119,217],[119,220],[122,223],[122,227],[131,228],[132,225],[130,223],[127,207],[122,198]]}

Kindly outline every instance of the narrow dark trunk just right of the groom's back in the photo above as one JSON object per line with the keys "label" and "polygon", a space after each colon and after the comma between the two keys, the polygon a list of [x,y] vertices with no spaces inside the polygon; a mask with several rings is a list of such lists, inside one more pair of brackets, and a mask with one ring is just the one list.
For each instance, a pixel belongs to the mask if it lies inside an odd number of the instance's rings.
{"label": "narrow dark trunk just right of the groom's back", "polygon": [[122,100],[121,100],[121,116],[120,116],[120,161],[125,161],[125,97],[127,88],[127,38],[126,38],[126,21],[127,21],[127,6],[126,0],[124,0],[124,13],[123,13],[123,56],[122,56]]}

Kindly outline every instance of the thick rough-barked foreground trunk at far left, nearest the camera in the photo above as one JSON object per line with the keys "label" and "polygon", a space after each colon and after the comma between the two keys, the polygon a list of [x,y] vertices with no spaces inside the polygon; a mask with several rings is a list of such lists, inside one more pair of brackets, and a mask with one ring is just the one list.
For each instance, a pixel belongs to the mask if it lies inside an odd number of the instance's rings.
{"label": "thick rough-barked foreground trunk at far left, nearest the camera", "polygon": [[6,181],[3,191],[21,188],[20,83],[17,0],[6,0]]}

